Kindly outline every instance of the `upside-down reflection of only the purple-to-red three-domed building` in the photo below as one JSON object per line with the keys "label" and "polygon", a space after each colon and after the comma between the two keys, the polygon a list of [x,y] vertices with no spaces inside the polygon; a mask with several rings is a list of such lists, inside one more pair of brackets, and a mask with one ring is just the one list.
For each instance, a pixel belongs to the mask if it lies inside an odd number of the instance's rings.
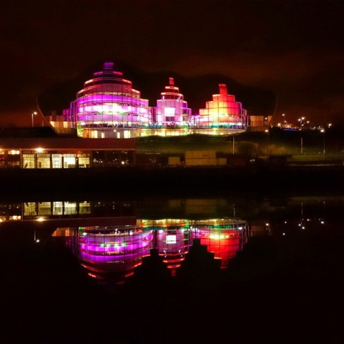
{"label": "upside-down reflection of only the purple-to-red three-domed building", "polygon": [[200,240],[221,268],[244,248],[249,226],[237,219],[136,219],[136,225],[58,228],[53,237],[64,237],[87,274],[98,283],[123,284],[133,276],[151,249],[158,252],[174,277],[193,240]]}

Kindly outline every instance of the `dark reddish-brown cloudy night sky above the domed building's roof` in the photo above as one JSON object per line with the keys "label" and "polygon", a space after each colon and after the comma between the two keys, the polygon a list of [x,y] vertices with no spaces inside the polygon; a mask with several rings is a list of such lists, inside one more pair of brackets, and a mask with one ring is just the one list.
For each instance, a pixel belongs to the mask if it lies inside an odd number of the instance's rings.
{"label": "dark reddish-brown cloudy night sky above the domed building's roof", "polygon": [[0,125],[30,125],[45,89],[117,60],[268,89],[275,122],[343,125],[343,15],[343,0],[1,0]]}

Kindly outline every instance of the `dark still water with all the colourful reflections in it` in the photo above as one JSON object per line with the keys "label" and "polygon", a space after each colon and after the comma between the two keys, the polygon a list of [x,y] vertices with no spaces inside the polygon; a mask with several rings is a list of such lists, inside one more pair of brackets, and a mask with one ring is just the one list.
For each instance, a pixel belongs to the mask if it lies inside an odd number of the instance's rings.
{"label": "dark still water with all the colourful reflections in it", "polygon": [[343,343],[344,196],[1,200],[3,343]]}

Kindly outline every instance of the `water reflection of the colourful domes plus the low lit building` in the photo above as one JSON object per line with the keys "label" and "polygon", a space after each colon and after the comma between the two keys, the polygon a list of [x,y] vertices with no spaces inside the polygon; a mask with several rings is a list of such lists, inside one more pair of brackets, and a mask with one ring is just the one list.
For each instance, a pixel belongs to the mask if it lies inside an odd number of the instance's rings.
{"label": "water reflection of the colourful domes plus the low lit building", "polygon": [[[213,254],[222,269],[227,268],[250,236],[246,221],[233,218],[235,214],[228,209],[219,211],[226,206],[223,200],[172,200],[168,204],[164,213],[171,215],[172,211],[173,216],[158,219],[142,218],[146,205],[140,211],[135,202],[120,200],[0,204],[0,217],[8,223],[40,221],[41,228],[46,224],[52,228],[53,239],[64,239],[89,277],[114,286],[133,276],[152,249],[169,275],[175,277],[195,239]],[[215,213],[229,216],[217,218]]]}

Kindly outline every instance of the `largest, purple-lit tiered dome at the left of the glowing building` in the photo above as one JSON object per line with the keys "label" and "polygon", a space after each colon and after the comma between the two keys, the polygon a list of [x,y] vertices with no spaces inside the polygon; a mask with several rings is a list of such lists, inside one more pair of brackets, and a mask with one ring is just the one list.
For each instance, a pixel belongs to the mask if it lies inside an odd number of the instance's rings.
{"label": "largest, purple-lit tiered dome at the left of the glowing building", "polygon": [[141,98],[122,72],[114,71],[111,62],[85,82],[64,117],[84,138],[131,138],[135,129],[151,122],[148,100]]}

